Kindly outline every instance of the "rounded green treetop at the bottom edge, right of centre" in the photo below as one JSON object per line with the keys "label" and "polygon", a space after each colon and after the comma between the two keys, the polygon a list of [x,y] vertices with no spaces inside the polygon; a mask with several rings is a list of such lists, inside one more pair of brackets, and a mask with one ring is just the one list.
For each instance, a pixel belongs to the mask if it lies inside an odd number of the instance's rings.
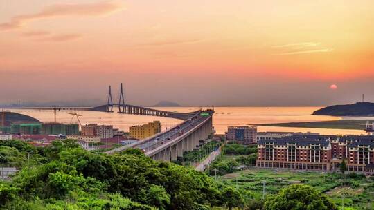
{"label": "rounded green treetop at the bottom edge, right of centre", "polygon": [[335,210],[335,205],[319,191],[304,184],[292,184],[265,200],[265,210]]}

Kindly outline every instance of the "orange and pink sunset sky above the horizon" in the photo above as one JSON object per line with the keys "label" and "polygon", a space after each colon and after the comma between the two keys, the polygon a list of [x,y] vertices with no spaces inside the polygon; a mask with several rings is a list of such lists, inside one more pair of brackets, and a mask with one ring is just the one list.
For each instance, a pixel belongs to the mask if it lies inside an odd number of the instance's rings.
{"label": "orange and pink sunset sky above the horizon", "polygon": [[0,103],[374,101],[374,1],[0,0]]}

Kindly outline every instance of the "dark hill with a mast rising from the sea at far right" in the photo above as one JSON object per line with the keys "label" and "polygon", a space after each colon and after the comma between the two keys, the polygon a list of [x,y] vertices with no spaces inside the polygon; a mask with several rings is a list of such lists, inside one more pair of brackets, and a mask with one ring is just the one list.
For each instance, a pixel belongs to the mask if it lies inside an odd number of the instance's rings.
{"label": "dark hill with a mast rising from the sea at far right", "polygon": [[374,116],[374,103],[358,102],[356,104],[327,106],[314,111],[312,115],[330,115],[330,116]]}

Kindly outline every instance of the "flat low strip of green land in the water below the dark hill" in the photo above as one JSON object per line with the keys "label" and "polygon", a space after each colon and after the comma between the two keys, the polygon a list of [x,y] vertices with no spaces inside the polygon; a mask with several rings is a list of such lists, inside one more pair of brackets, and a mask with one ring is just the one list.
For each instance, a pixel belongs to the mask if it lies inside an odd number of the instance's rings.
{"label": "flat low strip of green land in the water below the dark hill", "polygon": [[278,126],[297,128],[332,128],[332,129],[355,129],[364,130],[366,120],[332,120],[319,122],[287,122],[276,124],[256,124],[257,126]]}

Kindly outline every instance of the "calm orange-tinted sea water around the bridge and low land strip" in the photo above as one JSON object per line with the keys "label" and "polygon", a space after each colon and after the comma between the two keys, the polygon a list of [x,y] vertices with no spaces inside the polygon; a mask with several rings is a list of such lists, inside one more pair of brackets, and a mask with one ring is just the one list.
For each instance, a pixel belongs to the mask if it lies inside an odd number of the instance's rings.
{"label": "calm orange-tinted sea water around the bridge and low land strip", "polygon": [[[262,123],[279,123],[279,122],[310,122],[323,120],[339,120],[340,117],[330,116],[316,116],[311,115],[313,111],[321,107],[215,107],[215,115],[213,116],[213,126],[217,133],[224,133],[227,126],[240,126],[250,124]],[[168,107],[159,108],[166,111],[190,112],[199,109],[199,107]],[[53,111],[37,111],[37,110],[21,110],[8,109],[6,111],[13,111],[30,115],[42,122],[53,122]],[[57,111],[57,122],[63,123],[78,123],[78,120],[69,115],[71,111]],[[130,126],[146,124],[153,120],[159,120],[163,125],[163,129],[169,128],[181,122],[167,117],[153,117],[153,116],[139,116],[139,115],[124,115],[118,113],[102,113],[95,111],[78,111],[80,121],[82,124],[98,123],[98,124],[112,124],[114,128],[120,128],[124,131],[129,131]],[[73,117],[73,118],[72,118]],[[346,130],[346,129],[324,129],[324,128],[285,128],[285,127],[271,127],[258,126],[258,131],[287,131],[287,132],[319,132],[321,134],[365,134],[360,130]]]}

